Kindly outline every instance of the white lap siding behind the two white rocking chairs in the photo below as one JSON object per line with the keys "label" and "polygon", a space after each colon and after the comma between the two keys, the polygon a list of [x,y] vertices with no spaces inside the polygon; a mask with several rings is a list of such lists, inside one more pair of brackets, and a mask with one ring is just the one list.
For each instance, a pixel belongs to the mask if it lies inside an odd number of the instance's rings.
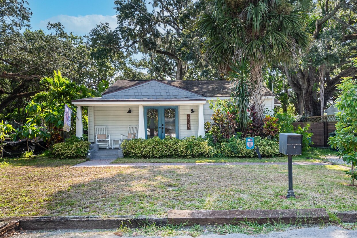
{"label": "white lap siding behind the two white rocking chairs", "polygon": [[121,134],[127,135],[130,125],[139,123],[139,106],[94,107],[94,125],[107,126],[110,139],[120,139]]}

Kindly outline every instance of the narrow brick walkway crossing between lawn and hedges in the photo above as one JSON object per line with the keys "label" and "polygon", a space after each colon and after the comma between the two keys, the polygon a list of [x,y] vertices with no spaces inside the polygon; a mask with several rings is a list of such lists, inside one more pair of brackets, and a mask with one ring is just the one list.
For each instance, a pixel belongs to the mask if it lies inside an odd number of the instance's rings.
{"label": "narrow brick walkway crossing between lawn and hedges", "polygon": [[[110,164],[114,160],[89,160],[83,163],[71,166],[76,167],[135,167],[135,166],[193,166],[193,165],[287,165],[287,162],[226,162],[226,163],[129,163],[129,164]],[[330,165],[332,163],[322,162],[293,162],[293,165]]]}

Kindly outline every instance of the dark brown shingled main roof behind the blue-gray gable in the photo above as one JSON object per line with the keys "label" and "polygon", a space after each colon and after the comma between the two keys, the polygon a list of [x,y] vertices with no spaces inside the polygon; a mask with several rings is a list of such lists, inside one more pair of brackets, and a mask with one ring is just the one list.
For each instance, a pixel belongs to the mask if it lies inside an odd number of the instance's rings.
{"label": "dark brown shingled main roof behind the blue-gray gable", "polygon": [[[156,81],[156,80],[154,80]],[[119,92],[122,89],[133,87],[137,84],[141,84],[144,82],[149,82],[145,80],[117,80],[111,87],[109,87],[104,93],[105,95]],[[160,82],[170,84],[172,86],[176,86],[182,88],[184,90],[188,90],[191,92],[195,92],[198,94],[202,94],[204,97],[230,97],[232,92],[233,83],[230,81],[220,80],[220,81],[168,81],[162,80]],[[267,88],[264,87],[265,96],[273,96],[274,94]]]}

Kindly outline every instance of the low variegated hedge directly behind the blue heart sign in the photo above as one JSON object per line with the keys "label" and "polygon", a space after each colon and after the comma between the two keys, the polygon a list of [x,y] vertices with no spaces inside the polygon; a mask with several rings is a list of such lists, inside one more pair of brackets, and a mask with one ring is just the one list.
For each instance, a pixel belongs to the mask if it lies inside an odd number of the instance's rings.
{"label": "low variegated hedge directly behind the blue heart sign", "polygon": [[[259,146],[259,151],[263,157],[272,157],[280,154],[279,143],[275,140],[256,136],[254,142],[255,148]],[[221,143],[219,154],[227,157],[257,157],[255,150],[246,149],[245,138],[240,139],[236,136],[231,137],[228,142]]]}

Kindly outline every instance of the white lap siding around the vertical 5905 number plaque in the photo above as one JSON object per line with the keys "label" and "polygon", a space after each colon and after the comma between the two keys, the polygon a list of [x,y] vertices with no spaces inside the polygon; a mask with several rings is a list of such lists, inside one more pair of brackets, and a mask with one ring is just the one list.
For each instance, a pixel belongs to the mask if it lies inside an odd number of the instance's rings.
{"label": "white lap siding around the vertical 5905 number plaque", "polygon": [[[191,113],[191,108],[195,111]],[[189,137],[191,135],[198,135],[198,105],[181,105],[179,106],[179,124],[180,139]],[[187,130],[187,114],[191,114],[191,130]]]}

